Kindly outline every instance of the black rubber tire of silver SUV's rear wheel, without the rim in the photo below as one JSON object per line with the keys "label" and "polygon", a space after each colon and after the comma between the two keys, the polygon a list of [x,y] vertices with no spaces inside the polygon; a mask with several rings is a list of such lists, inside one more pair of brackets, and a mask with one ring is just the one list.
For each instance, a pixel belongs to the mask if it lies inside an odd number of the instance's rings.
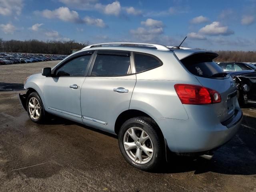
{"label": "black rubber tire of silver SUV's rear wheel, without the rim", "polygon": [[[124,148],[124,136],[128,129],[132,127],[138,127],[144,130],[148,136],[150,136],[150,139],[152,141],[152,144],[154,146],[154,151],[152,158],[149,162],[146,162],[145,164],[140,164],[132,160],[128,154],[126,153],[126,150]],[[131,118],[124,122],[122,127],[120,128],[120,131],[118,133],[118,143],[119,148],[122,153],[122,156],[124,159],[132,166],[140,169],[140,170],[154,170],[159,165],[160,162],[162,162],[164,157],[164,140],[161,138],[160,134],[156,131],[156,125],[153,123],[153,121],[150,118],[146,117],[136,117]],[[136,150],[136,149],[135,149]]]}

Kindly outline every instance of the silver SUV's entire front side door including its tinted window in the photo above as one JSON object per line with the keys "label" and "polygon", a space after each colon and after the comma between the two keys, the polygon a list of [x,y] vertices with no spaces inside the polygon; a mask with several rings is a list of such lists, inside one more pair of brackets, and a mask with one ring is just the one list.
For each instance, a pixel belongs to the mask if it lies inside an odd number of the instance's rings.
{"label": "silver SUV's entire front side door including its tinted window", "polygon": [[92,54],[79,55],[57,66],[54,77],[44,84],[46,111],[82,122],[80,91],[88,72]]}

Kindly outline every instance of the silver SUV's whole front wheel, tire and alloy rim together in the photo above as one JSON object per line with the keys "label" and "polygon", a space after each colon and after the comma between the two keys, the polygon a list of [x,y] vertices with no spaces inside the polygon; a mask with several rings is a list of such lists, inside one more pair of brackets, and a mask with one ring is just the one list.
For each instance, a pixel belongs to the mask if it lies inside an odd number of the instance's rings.
{"label": "silver SUV's whole front wheel, tire and alloy rim together", "polygon": [[28,95],[26,106],[29,118],[35,123],[42,123],[45,112],[42,100],[37,92]]}

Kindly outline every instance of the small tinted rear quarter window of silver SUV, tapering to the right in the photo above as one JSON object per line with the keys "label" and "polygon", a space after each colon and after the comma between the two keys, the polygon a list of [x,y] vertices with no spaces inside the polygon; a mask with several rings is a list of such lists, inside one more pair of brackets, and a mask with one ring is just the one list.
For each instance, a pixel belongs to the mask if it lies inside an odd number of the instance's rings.
{"label": "small tinted rear quarter window of silver SUV, tapering to the right", "polygon": [[150,55],[138,53],[134,53],[134,62],[137,73],[153,69],[162,65],[160,60],[158,60],[157,58]]}

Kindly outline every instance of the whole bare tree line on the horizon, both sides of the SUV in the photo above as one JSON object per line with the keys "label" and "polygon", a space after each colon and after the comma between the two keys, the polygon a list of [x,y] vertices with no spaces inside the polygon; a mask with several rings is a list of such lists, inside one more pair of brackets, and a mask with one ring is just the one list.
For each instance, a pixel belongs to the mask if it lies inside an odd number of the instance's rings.
{"label": "whole bare tree line on the horizon, both sides of the SUV", "polygon": [[[80,50],[89,42],[71,41],[38,41],[38,40],[2,40],[0,52],[71,54],[71,50]],[[219,56],[216,62],[256,62],[256,51],[216,51]]]}

